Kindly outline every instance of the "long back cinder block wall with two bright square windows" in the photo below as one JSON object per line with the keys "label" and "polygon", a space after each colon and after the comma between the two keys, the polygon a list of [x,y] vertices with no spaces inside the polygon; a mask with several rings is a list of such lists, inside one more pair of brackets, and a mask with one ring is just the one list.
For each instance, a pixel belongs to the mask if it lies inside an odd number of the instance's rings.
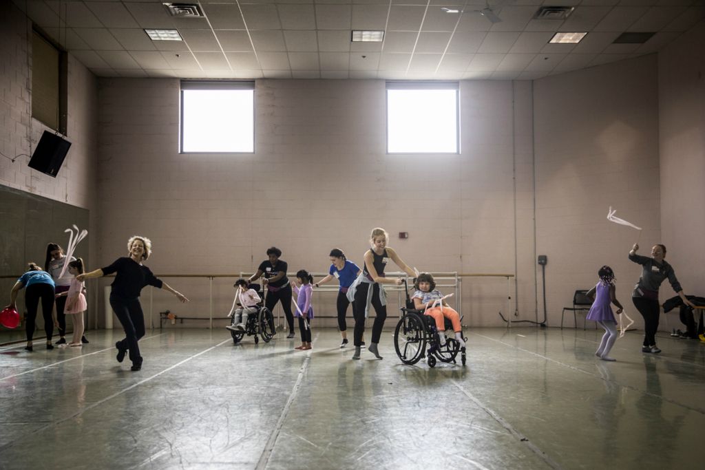
{"label": "long back cinder block wall with two bright square windows", "polygon": [[[257,81],[254,155],[178,154],[178,80],[99,83],[101,263],[143,233],[156,273],[252,271],[271,245],[293,273],[326,271],[333,247],[362,263],[381,225],[421,270],[513,274],[520,258],[531,266],[520,311],[534,318],[529,82],[462,82],[462,154],[450,156],[386,154],[382,80]],[[192,302],[157,292],[155,313],[208,316],[207,280],[168,283]],[[232,283],[214,282],[216,316],[230,307]],[[466,321],[502,324],[498,311],[514,309],[508,290],[514,297],[505,278],[465,280]],[[319,315],[335,315],[334,298],[317,295]]]}

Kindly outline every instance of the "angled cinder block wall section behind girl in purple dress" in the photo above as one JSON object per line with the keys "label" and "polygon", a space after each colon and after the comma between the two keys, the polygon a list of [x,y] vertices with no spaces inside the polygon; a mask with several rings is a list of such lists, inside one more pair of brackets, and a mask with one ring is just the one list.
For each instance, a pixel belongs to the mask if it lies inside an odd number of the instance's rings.
{"label": "angled cinder block wall section behind girl in purple dress", "polygon": [[647,256],[661,240],[656,67],[650,55],[534,82],[537,250],[548,255],[551,326],[608,264],[618,299],[642,328],[630,299],[641,271],[627,259],[639,232],[606,216],[613,206],[642,227]]}

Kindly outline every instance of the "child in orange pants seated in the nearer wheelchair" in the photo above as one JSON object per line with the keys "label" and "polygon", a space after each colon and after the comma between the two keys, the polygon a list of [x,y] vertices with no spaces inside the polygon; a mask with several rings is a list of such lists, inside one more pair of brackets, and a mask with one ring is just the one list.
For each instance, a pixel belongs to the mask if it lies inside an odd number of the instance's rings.
{"label": "child in orange pants seated in the nearer wheelchair", "polygon": [[441,346],[446,345],[446,326],[443,319],[447,318],[450,320],[450,323],[453,324],[455,340],[458,341],[461,349],[464,348],[465,341],[462,339],[460,315],[457,311],[448,306],[448,302],[443,299],[441,291],[436,290],[434,276],[431,276],[429,273],[419,274],[414,283],[414,287],[416,288],[416,292],[411,296],[414,300],[414,307],[417,310],[423,311],[424,315],[433,317],[436,321],[436,329],[439,333]]}

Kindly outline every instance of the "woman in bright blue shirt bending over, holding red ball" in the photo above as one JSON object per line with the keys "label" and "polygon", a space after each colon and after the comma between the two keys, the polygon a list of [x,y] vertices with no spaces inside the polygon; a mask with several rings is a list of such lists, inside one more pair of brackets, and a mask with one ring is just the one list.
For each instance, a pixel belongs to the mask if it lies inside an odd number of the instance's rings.
{"label": "woman in bright blue shirt bending over, holding red ball", "polygon": [[10,292],[10,304],[8,307],[17,309],[16,300],[20,289],[25,291],[25,308],[27,309],[27,319],[25,331],[27,332],[27,347],[25,350],[32,350],[32,335],[35,333],[35,321],[37,319],[37,307],[39,299],[42,300],[42,316],[44,316],[44,333],[47,333],[47,350],[53,350],[51,345],[51,335],[54,334],[53,318],[54,312],[54,279],[49,273],[42,271],[36,263],[30,263],[26,273],[20,276]]}

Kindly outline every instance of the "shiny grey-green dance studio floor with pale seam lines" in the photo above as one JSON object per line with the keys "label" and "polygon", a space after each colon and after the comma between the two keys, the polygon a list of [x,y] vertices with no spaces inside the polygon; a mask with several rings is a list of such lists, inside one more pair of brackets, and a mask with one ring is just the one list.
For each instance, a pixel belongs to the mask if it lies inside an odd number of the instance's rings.
{"label": "shiny grey-green dance studio floor with pale seam lines", "polygon": [[[393,326],[393,325],[389,325]],[[404,366],[226,330],[118,331],[82,350],[0,348],[1,469],[685,469],[703,461],[705,344],[639,332],[594,357],[598,330],[467,331],[467,366]],[[352,332],[351,332],[352,333]],[[699,463],[700,462],[700,463]]]}

